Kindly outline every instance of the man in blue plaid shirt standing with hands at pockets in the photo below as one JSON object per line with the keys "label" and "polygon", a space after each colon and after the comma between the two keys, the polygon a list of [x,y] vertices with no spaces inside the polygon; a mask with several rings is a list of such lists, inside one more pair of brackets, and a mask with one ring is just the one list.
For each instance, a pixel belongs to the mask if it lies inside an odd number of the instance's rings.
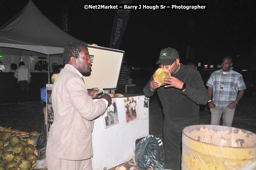
{"label": "man in blue plaid shirt standing with hands at pockets", "polygon": [[208,106],[211,111],[211,125],[219,125],[223,113],[222,125],[231,126],[235,108],[245,93],[246,87],[243,76],[230,69],[233,65],[232,62],[231,57],[224,57],[221,63],[222,69],[213,72],[206,83],[209,94]]}

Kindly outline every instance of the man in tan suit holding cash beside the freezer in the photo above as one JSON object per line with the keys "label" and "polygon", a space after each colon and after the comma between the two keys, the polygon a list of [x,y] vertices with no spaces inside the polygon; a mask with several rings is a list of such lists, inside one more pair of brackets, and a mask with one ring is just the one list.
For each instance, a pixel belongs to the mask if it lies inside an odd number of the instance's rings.
{"label": "man in tan suit holding cash beside the freezer", "polygon": [[91,170],[94,119],[110,106],[111,97],[103,95],[93,102],[100,90],[87,92],[81,74],[91,71],[87,45],[68,42],[63,59],[66,65],[52,91],[54,122],[46,146],[48,170]]}

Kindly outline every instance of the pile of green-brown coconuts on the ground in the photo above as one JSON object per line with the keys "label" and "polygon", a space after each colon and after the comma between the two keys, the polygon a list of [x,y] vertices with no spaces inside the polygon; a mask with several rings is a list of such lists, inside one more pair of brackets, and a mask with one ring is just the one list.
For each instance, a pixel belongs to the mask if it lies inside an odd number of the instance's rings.
{"label": "pile of green-brown coconuts on the ground", "polygon": [[38,137],[37,131],[28,133],[0,126],[0,170],[36,169]]}

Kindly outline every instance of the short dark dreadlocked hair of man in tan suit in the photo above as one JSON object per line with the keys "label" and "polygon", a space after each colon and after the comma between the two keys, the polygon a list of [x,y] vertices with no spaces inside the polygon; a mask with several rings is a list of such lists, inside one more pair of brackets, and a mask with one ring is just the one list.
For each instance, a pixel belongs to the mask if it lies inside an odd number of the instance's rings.
{"label": "short dark dreadlocked hair of man in tan suit", "polygon": [[68,64],[71,57],[75,57],[77,59],[83,47],[88,50],[87,44],[75,41],[68,41],[68,44],[64,47],[62,55],[64,64]]}

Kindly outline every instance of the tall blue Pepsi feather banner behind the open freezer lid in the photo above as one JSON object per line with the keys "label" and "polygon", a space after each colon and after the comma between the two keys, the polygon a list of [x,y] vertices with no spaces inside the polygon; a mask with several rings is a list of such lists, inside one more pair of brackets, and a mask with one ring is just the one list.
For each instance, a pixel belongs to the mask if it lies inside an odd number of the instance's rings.
{"label": "tall blue Pepsi feather banner behind the open freezer lid", "polygon": [[[119,4],[131,4],[132,0],[121,0]],[[126,25],[129,20],[131,10],[117,10],[114,18],[110,48],[118,49],[120,41],[123,37]]]}

